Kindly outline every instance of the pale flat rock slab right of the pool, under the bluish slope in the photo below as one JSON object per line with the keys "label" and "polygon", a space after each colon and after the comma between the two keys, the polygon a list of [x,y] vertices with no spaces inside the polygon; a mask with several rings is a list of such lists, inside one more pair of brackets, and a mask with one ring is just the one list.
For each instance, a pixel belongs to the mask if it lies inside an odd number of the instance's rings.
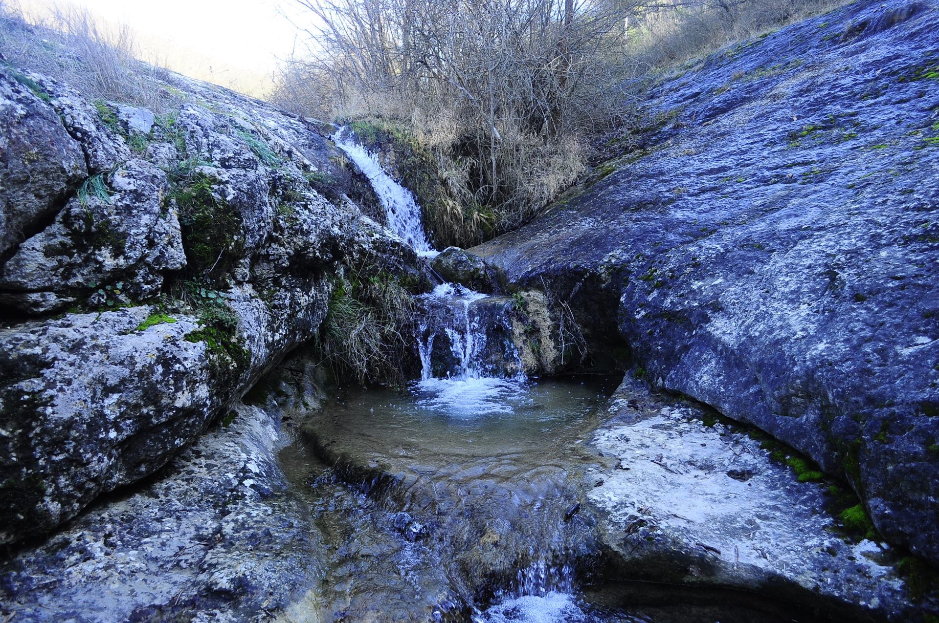
{"label": "pale flat rock slab right of the pool, under the bluish slope", "polygon": [[800,482],[702,405],[627,378],[608,416],[587,494],[608,578],[751,591],[820,619],[914,620],[939,605],[913,605],[901,553],[845,533],[828,483]]}

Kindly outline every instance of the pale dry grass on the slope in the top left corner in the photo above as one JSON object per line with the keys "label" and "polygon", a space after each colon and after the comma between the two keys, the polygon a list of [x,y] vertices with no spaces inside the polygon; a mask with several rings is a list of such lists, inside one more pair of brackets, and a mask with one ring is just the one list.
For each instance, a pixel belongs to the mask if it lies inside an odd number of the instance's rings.
{"label": "pale dry grass on the slope in the top left corner", "polygon": [[51,18],[27,19],[15,5],[0,3],[3,62],[69,84],[88,99],[108,99],[164,112],[165,69],[134,57],[127,26],[106,28],[87,10],[57,8]]}

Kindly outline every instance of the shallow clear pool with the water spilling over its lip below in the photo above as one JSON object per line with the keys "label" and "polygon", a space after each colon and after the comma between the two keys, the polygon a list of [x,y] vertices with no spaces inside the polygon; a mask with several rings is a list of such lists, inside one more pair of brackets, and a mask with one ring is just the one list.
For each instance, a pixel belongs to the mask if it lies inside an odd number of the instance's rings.
{"label": "shallow clear pool with the water spilling over its lip below", "polygon": [[325,619],[497,621],[493,602],[568,599],[548,596],[592,548],[583,447],[619,381],[341,391],[281,457],[323,535]]}

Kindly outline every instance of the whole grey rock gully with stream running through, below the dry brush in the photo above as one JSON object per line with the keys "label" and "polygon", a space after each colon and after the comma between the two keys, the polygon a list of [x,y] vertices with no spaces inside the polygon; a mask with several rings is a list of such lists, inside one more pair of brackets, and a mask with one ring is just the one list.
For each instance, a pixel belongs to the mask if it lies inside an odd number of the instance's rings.
{"label": "whole grey rock gully with stream running through, below the dry brush", "polygon": [[0,621],[935,623],[937,16],[657,76],[469,250],[347,129],[0,68]]}

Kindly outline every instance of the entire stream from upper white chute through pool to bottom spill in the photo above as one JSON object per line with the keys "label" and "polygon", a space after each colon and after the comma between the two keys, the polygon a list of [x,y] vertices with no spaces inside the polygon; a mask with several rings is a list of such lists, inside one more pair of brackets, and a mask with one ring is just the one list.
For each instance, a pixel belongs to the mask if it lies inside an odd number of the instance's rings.
{"label": "entire stream from upper white chute through pool to bottom spill", "polygon": [[[435,257],[410,192],[346,129],[333,138],[372,181],[393,232]],[[346,535],[324,601],[342,620],[376,608],[410,613],[400,620],[427,608],[430,620],[599,620],[585,618],[575,594],[571,560],[584,554],[589,529],[569,509],[579,507],[577,474],[589,460],[577,439],[615,385],[529,380],[510,339],[507,297],[443,283],[418,303],[421,380],[405,395],[347,390],[305,433],[339,474],[306,477],[319,483],[312,506],[328,532]],[[301,456],[282,461],[309,469]],[[341,487],[328,493],[336,478],[366,500]],[[401,535],[410,542],[396,549]],[[362,549],[389,554],[350,554]],[[484,591],[487,609],[468,585]],[[463,615],[454,618],[454,607]]]}

